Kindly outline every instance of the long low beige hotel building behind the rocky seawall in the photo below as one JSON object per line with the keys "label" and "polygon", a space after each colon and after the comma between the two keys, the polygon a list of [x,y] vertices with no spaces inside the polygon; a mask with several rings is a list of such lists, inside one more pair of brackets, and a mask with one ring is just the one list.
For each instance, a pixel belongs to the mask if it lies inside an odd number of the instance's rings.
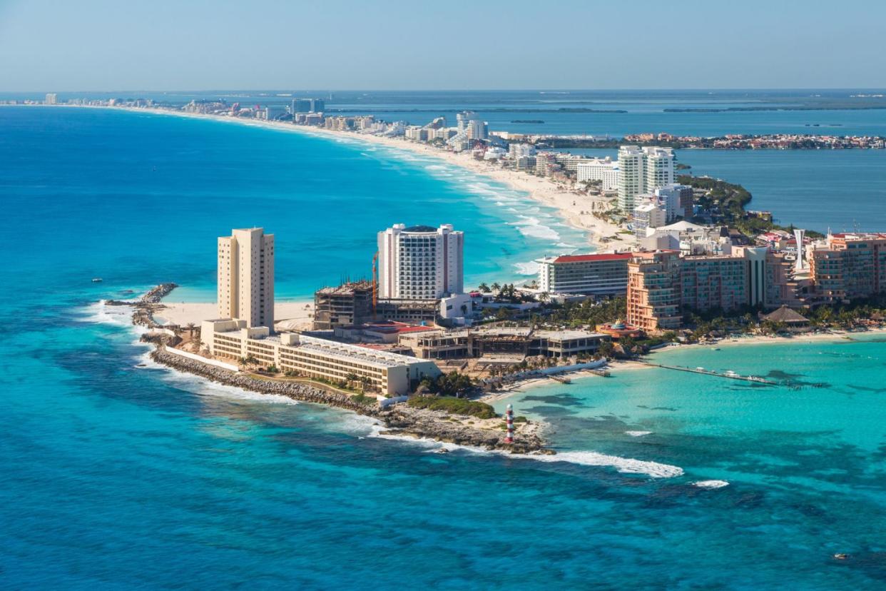
{"label": "long low beige hotel building behind the rocky seawall", "polygon": [[392,396],[410,392],[424,377],[440,375],[433,362],[291,332],[272,336],[267,327],[249,328],[242,320],[206,320],[200,338],[216,357],[253,357],[282,371],[330,381],[356,376]]}

